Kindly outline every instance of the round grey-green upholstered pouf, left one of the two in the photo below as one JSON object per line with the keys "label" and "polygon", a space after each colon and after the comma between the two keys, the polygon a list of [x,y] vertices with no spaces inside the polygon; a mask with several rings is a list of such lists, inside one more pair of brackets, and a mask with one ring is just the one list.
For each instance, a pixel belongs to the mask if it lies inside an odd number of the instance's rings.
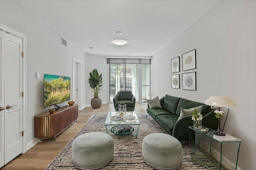
{"label": "round grey-green upholstered pouf, left one of the two", "polygon": [[98,169],[114,156],[113,138],[101,132],[85,133],[72,144],[72,163],[80,169]]}

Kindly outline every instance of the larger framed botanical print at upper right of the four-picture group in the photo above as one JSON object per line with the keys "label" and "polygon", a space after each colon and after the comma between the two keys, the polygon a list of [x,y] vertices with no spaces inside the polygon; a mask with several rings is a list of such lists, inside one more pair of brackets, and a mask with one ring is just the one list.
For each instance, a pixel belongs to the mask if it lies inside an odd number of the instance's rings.
{"label": "larger framed botanical print at upper right of the four-picture group", "polygon": [[182,71],[196,68],[196,49],[182,54]]}

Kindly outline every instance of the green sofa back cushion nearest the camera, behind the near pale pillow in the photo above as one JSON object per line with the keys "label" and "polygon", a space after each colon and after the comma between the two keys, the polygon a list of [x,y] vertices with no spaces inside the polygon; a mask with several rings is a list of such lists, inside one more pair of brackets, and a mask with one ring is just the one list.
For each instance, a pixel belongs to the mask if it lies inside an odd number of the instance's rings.
{"label": "green sofa back cushion nearest the camera, behind the near pale pillow", "polygon": [[200,106],[200,105],[203,105],[202,112],[201,112],[202,115],[206,115],[207,113],[209,113],[211,111],[211,106],[208,106],[206,104],[202,104],[200,102],[193,102],[191,100],[181,98],[180,101],[179,101],[177,110],[176,110],[176,115],[180,115],[180,109],[181,108],[189,109],[189,108],[197,107],[197,106]]}

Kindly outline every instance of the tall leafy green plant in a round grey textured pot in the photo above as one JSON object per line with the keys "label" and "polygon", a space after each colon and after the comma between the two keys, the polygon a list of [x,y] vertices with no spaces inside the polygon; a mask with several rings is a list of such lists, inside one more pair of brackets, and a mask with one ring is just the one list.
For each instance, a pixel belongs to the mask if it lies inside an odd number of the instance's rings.
{"label": "tall leafy green plant in a round grey textured pot", "polygon": [[98,70],[93,69],[93,71],[90,72],[89,84],[94,92],[94,98],[92,98],[91,100],[91,106],[94,109],[100,108],[102,105],[102,102],[98,97],[100,87],[102,86],[101,83],[102,83],[102,74],[99,75]]}

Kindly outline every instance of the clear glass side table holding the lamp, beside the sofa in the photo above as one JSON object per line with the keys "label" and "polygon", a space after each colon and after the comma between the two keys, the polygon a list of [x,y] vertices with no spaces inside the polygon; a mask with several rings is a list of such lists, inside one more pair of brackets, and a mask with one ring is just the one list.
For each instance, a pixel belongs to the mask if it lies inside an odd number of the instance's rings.
{"label": "clear glass side table holding the lamp, beside the sofa", "polygon": [[[206,128],[203,127],[202,128]],[[208,128],[209,129],[209,128]],[[231,135],[226,134],[226,136],[217,136],[214,135],[214,130],[209,129],[208,132],[201,132],[198,129],[194,129],[193,126],[188,127],[189,132],[189,147],[190,147],[190,154],[191,154],[191,161],[195,164],[200,164],[202,166],[205,166],[208,169],[220,169],[223,170],[226,168],[223,166],[222,158],[223,158],[223,151],[224,151],[224,144],[228,143],[228,146],[225,145],[228,149],[232,148],[232,159],[233,162],[235,162],[235,170],[237,169],[237,163],[238,163],[238,154],[240,149],[240,143],[241,140],[233,137]],[[214,144],[213,144],[214,143]],[[212,145],[214,145],[217,148],[217,152],[219,152],[219,162],[216,161],[214,158],[212,151]],[[216,152],[215,151],[215,152]],[[216,164],[219,164],[218,167],[216,167]]]}

